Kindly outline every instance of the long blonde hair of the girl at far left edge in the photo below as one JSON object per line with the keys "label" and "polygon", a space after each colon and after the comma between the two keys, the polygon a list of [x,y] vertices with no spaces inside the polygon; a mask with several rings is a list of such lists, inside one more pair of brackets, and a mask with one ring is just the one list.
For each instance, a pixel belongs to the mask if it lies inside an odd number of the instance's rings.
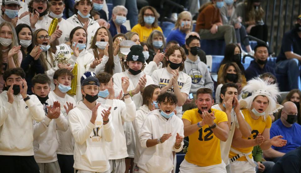
{"label": "long blonde hair of the girl at far left edge", "polygon": [[[12,44],[9,45],[9,50],[12,49],[14,46],[19,46],[19,44],[18,44],[18,37],[17,37],[17,34],[16,34],[16,30],[13,27],[13,25],[11,23],[9,23],[9,22],[3,22],[3,23],[0,24],[0,30],[1,30],[1,28],[3,26],[8,26],[10,28],[10,30],[12,31],[12,35],[13,35],[13,38],[12,38],[13,42],[12,42]],[[1,45],[1,43],[0,43],[0,47],[1,47],[1,51],[0,51],[0,67],[2,68],[2,66],[3,66],[3,64],[2,64],[2,62],[3,62],[3,55],[2,54],[3,53],[2,53],[2,45]],[[19,64],[19,62],[18,62],[18,54],[13,55],[13,62],[15,63],[16,67],[20,67],[21,64]],[[2,70],[3,69],[1,69],[1,71]],[[2,75],[2,73],[0,73],[0,75]]]}

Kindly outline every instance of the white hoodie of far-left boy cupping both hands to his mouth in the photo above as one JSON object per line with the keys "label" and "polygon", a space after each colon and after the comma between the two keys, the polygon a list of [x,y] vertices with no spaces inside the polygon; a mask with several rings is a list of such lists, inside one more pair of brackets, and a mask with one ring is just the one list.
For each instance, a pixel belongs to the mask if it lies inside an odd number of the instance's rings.
{"label": "white hoodie of far-left boy cupping both hands to his mouth", "polygon": [[33,156],[33,120],[45,117],[43,105],[37,96],[26,102],[19,95],[8,102],[7,91],[0,94],[0,155]]}

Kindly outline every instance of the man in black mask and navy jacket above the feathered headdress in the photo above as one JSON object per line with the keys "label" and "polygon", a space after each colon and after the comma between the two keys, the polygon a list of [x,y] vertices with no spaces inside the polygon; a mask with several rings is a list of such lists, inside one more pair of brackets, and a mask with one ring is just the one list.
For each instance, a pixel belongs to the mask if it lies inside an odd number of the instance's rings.
{"label": "man in black mask and navy jacket above the feathered headdress", "polygon": [[269,57],[268,47],[265,44],[258,44],[254,48],[255,60],[251,61],[250,66],[245,70],[247,81],[254,77],[258,77],[263,73],[270,72],[276,76],[274,67],[266,64]]}

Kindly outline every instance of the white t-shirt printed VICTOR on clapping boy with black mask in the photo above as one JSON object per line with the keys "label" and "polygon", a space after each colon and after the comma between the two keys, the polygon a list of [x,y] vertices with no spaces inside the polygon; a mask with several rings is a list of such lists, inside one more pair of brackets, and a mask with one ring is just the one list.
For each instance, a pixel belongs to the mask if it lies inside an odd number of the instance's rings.
{"label": "white t-shirt printed VICTOR on clapping boy with black mask", "polygon": [[[154,84],[159,85],[160,88],[166,86],[172,77],[173,75],[167,71],[166,67],[155,70],[152,74]],[[191,87],[191,77],[184,72],[179,72],[178,85],[181,93],[185,93],[188,96]],[[175,92],[174,86],[171,86],[167,91]],[[177,116],[182,118],[182,106],[176,106],[175,110],[177,111]]]}

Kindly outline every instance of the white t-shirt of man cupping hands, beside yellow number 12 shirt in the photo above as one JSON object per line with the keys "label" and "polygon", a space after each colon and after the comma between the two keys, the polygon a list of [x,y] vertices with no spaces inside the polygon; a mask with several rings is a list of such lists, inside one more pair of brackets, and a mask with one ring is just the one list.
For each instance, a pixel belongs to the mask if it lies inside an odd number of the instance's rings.
{"label": "white t-shirt of man cupping hands, beside yellow number 12 shirt", "polygon": [[[217,109],[220,111],[223,111],[218,104],[211,106],[213,109]],[[242,115],[242,112],[240,111],[240,114]],[[243,118],[245,118],[244,116],[242,116]],[[239,124],[237,121],[237,116],[235,114],[234,109],[232,109],[231,111],[231,128],[229,130],[228,133],[228,139],[227,141],[221,141],[220,146],[221,146],[221,156],[223,161],[225,162],[226,165],[228,165],[229,163],[229,152],[230,152],[230,148],[231,148],[231,143],[232,143],[232,138],[234,135],[234,131],[235,128],[239,128]]]}

